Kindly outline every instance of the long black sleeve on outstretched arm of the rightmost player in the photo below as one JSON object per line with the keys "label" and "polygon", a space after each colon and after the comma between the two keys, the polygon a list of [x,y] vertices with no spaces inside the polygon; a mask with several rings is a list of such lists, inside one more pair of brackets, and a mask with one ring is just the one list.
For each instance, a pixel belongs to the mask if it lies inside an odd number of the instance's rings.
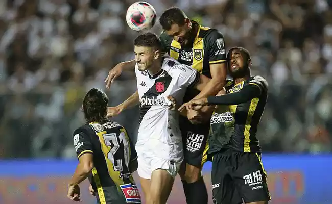
{"label": "long black sleeve on outstretched arm of the rightmost player", "polygon": [[255,85],[247,85],[239,92],[229,93],[221,96],[207,97],[208,105],[237,105],[260,96],[260,89]]}

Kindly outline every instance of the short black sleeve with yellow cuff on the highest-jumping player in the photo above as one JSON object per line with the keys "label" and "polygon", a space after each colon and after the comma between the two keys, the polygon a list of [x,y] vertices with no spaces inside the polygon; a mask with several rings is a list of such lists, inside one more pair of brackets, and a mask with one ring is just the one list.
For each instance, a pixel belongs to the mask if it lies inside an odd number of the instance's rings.
{"label": "short black sleeve with yellow cuff on the highest-jumping player", "polygon": [[226,50],[224,36],[213,29],[206,37],[208,43],[209,64],[226,62]]}

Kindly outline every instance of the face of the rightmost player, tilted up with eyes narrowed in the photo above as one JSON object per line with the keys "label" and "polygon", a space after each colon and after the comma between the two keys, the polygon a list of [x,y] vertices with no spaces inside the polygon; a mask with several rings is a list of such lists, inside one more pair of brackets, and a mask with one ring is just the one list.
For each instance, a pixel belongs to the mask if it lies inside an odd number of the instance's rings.
{"label": "face of the rightmost player, tilted up with eyes narrowed", "polygon": [[239,49],[232,50],[228,62],[228,70],[232,77],[242,77],[248,65],[245,60]]}

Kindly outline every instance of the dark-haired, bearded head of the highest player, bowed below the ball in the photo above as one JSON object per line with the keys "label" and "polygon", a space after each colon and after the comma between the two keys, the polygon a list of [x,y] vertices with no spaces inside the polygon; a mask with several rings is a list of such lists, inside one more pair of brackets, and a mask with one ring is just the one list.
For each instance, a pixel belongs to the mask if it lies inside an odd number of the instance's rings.
{"label": "dark-haired, bearded head of the highest player, bowed below the ball", "polygon": [[159,22],[164,32],[173,36],[174,40],[181,45],[192,42],[195,37],[192,35],[192,23],[190,19],[179,8],[172,7],[165,10],[161,14]]}

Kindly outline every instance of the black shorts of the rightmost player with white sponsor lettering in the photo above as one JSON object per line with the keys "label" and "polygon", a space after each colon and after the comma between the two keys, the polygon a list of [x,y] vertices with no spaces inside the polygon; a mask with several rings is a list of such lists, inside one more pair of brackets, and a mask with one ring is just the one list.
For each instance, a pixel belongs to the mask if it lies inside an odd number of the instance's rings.
{"label": "black shorts of the rightmost player with white sponsor lettering", "polygon": [[270,200],[260,154],[225,150],[212,159],[214,204],[241,204]]}

